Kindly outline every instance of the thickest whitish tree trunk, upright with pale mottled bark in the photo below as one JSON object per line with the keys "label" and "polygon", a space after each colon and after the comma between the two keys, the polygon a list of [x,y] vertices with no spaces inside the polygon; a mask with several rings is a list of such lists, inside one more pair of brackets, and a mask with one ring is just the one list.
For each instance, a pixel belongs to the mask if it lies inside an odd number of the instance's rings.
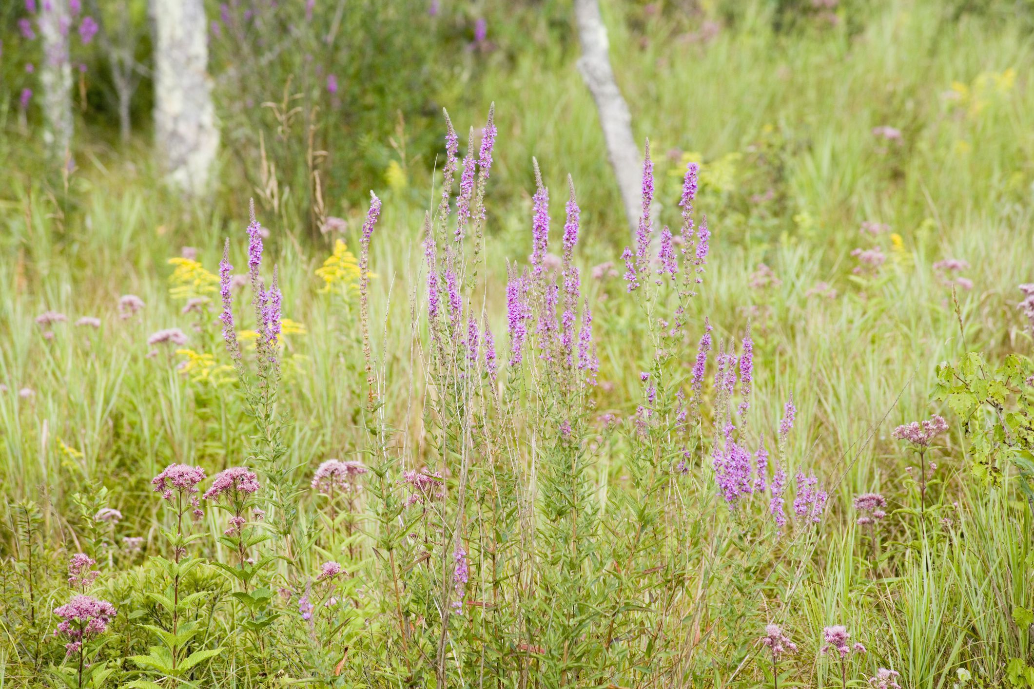
{"label": "thickest whitish tree trunk, upright with pale mottled bark", "polygon": [[201,194],[219,147],[203,0],[151,0],[154,128],[169,180]]}

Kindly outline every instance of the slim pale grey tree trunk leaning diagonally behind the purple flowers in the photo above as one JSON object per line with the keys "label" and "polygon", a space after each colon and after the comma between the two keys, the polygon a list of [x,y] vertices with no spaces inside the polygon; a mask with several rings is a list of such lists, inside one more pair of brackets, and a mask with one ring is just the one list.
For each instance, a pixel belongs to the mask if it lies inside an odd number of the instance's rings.
{"label": "slim pale grey tree trunk leaning diagonally behind the purple flowers", "polygon": [[642,205],[642,158],[632,135],[632,114],[614,81],[607,27],[600,15],[599,0],[575,0],[575,18],[582,46],[578,70],[596,101],[607,154],[625,201],[625,216],[634,236]]}

